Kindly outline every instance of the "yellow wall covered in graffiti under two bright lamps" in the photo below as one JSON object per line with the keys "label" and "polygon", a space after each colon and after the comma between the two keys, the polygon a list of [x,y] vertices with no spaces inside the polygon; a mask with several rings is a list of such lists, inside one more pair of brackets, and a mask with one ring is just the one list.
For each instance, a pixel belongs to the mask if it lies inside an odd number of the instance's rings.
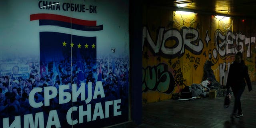
{"label": "yellow wall covered in graffiti under two bright lamps", "polygon": [[242,52],[255,81],[255,20],[219,18],[161,8],[143,9],[143,103],[170,99],[185,86],[199,84],[204,65],[226,85],[234,55]]}

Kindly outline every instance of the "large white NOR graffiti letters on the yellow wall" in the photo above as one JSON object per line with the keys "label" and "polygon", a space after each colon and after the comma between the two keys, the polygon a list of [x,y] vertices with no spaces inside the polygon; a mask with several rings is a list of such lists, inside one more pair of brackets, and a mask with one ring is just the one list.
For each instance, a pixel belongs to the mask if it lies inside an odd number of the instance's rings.
{"label": "large white NOR graffiti letters on the yellow wall", "polygon": [[[184,54],[184,49],[186,48],[194,54],[201,54],[204,48],[202,40],[199,39],[199,33],[193,28],[182,28],[182,33],[176,29],[166,30],[165,28],[160,28],[158,30],[158,36],[156,38],[156,43],[152,40],[148,29],[143,28],[142,34],[142,48],[144,42],[150,44],[153,52],[157,54],[161,52],[165,55],[172,55],[170,57],[175,58]],[[175,41],[172,46],[166,45],[169,40]],[[160,49],[161,48],[161,49]]]}

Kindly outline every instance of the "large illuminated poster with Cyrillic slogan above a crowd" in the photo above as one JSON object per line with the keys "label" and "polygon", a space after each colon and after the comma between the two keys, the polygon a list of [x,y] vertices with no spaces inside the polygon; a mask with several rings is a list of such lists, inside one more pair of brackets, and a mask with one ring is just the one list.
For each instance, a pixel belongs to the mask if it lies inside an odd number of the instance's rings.
{"label": "large illuminated poster with Cyrillic slogan above a crowd", "polygon": [[1,1],[0,127],[129,121],[128,4]]}

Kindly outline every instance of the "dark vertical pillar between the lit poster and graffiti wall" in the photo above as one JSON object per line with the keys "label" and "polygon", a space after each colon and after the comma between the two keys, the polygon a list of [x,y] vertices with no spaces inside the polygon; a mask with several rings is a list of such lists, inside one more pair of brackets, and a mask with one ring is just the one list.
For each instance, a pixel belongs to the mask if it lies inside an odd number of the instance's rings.
{"label": "dark vertical pillar between the lit poster and graffiti wall", "polygon": [[129,8],[130,30],[130,94],[131,118],[142,122],[142,0],[131,0]]}

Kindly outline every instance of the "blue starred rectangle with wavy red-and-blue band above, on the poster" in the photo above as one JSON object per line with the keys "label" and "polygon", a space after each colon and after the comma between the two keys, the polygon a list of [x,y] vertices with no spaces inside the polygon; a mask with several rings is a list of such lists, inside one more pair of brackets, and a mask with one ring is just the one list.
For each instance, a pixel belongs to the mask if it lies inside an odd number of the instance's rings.
{"label": "blue starred rectangle with wavy red-and-blue band above, on the poster", "polygon": [[[39,20],[39,26],[50,25],[82,31],[103,30],[103,25],[97,26],[95,20],[81,20],[57,14],[31,14],[30,21],[32,20]],[[80,85],[82,82],[89,82],[85,70],[92,70],[96,66],[96,47],[96,36],[40,32],[41,77],[52,70],[43,68],[53,65],[57,68],[52,73],[57,74],[55,81],[59,81],[59,84]]]}

